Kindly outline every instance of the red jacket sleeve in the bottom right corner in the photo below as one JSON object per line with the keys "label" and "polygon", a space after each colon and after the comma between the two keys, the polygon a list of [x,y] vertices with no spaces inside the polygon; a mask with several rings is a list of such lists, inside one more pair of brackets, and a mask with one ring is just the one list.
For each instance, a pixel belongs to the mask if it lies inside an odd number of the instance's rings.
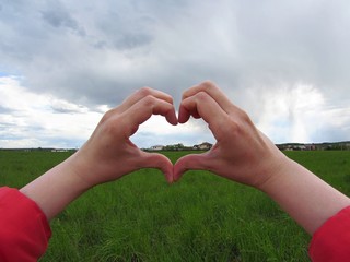
{"label": "red jacket sleeve in the bottom right corner", "polygon": [[350,206],[322,225],[313,236],[308,254],[312,261],[350,261]]}

